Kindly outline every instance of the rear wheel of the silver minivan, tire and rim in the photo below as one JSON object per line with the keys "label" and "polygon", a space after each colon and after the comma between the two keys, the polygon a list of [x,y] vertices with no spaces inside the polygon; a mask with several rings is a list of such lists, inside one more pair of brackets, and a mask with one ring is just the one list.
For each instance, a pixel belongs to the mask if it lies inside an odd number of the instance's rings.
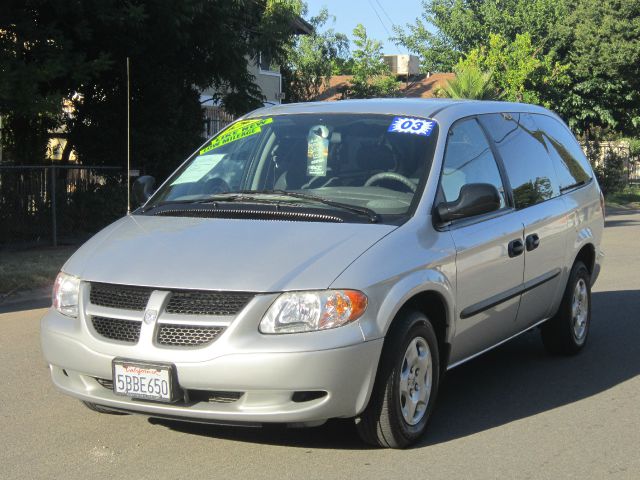
{"label": "rear wheel of the silver minivan, tire and rim", "polygon": [[591,325],[591,275],[581,261],[571,268],[556,315],[540,332],[545,349],[556,355],[575,355],[587,343]]}

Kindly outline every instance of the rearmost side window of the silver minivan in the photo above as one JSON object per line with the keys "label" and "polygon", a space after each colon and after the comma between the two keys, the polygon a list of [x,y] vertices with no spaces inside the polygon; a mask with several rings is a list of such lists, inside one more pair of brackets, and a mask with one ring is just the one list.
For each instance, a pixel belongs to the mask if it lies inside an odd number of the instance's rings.
{"label": "rearmost side window of the silver minivan", "polygon": [[591,167],[574,136],[558,120],[546,115],[533,115],[543,133],[549,155],[553,160],[560,190],[569,189],[591,180]]}

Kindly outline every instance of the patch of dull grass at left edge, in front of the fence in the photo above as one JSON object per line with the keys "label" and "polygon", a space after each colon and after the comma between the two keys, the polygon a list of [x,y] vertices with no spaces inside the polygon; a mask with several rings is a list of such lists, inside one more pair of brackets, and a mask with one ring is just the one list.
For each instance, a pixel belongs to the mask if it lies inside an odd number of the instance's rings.
{"label": "patch of dull grass at left edge, in front of the fence", "polygon": [[0,250],[0,297],[20,290],[53,286],[60,267],[77,247]]}

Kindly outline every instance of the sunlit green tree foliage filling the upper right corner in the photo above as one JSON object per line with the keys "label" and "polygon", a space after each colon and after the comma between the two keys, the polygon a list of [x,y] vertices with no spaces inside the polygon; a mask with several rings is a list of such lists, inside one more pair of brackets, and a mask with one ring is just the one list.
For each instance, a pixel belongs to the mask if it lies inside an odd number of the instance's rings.
{"label": "sunlit green tree foliage filling the upper right corner", "polygon": [[638,135],[637,0],[424,0],[420,18],[395,33],[424,71],[451,71],[461,57],[493,51],[494,65],[482,69],[505,99],[549,106],[587,136]]}

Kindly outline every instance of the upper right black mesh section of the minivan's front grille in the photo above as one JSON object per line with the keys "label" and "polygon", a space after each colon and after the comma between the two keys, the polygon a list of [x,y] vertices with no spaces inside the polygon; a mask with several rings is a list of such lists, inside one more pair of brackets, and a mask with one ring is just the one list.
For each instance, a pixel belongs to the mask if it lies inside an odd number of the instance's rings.
{"label": "upper right black mesh section of the minivan's front grille", "polygon": [[182,315],[236,315],[253,298],[246,292],[179,290],[171,294],[167,313]]}

